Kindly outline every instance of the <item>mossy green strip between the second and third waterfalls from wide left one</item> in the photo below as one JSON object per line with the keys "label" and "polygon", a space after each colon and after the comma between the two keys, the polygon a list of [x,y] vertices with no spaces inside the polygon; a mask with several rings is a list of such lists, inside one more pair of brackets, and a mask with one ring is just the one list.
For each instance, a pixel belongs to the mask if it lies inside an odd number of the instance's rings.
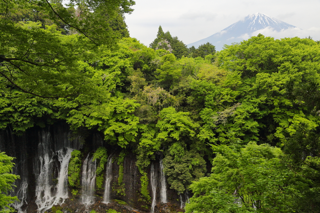
{"label": "mossy green strip between the second and third waterfalls from wide left one", "polygon": [[92,161],[98,160],[98,167],[96,170],[96,185],[97,189],[102,189],[103,184],[103,170],[104,164],[108,161],[107,149],[105,147],[99,147],[97,151],[93,153]]}

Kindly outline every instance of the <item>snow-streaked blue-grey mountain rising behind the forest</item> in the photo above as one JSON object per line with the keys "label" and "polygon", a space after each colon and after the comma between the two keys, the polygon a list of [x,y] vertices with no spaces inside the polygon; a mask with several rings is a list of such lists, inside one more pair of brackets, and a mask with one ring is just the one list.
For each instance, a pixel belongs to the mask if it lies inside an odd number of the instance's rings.
{"label": "snow-streaked blue-grey mountain rising behind the forest", "polygon": [[[267,16],[263,13],[257,12],[244,17],[236,23],[224,28],[218,33],[215,33],[200,41],[188,44],[188,47],[195,46],[196,48],[201,44],[210,42],[216,46],[216,50],[220,51],[224,44],[231,44],[232,42],[241,42],[251,36],[258,34],[258,30],[270,28],[273,31],[280,32],[288,28],[295,28],[295,26],[285,23],[279,19]],[[268,35],[266,35],[268,36]]]}

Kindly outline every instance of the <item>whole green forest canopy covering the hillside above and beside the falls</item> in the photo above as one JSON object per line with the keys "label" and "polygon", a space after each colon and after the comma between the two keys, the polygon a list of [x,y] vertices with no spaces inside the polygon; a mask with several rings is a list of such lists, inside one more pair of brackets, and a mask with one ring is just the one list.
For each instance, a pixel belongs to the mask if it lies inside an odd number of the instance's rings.
{"label": "whole green forest canopy covering the hillside above and beside the falls", "polygon": [[187,212],[320,210],[317,42],[260,34],[216,52],[160,26],[148,48],[125,29],[133,1],[32,3],[0,3],[0,128],[98,129],[136,154],[141,189],[163,152],[170,187],[194,193]]}

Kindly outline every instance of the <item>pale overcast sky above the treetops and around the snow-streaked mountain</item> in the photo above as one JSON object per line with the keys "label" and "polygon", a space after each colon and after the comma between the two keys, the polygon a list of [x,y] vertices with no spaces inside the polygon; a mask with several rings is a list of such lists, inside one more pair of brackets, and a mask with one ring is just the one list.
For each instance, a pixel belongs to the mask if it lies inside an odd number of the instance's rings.
{"label": "pale overcast sky above the treetops and around the snow-streaked mountain", "polygon": [[199,41],[228,27],[252,13],[261,12],[302,30],[282,33],[263,32],[266,36],[306,37],[320,40],[320,0],[220,0],[177,1],[135,0],[132,14],[125,15],[130,36],[149,45],[159,25],[185,44]]}

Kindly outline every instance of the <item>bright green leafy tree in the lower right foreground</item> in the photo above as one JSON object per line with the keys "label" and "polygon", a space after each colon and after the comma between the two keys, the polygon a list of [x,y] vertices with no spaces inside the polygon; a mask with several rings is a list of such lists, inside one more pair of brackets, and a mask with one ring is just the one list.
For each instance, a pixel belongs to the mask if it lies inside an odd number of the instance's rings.
{"label": "bright green leafy tree in the lower right foreground", "polygon": [[194,195],[186,212],[289,212],[290,171],[283,169],[279,148],[231,138],[213,146],[212,174],[190,185]]}

